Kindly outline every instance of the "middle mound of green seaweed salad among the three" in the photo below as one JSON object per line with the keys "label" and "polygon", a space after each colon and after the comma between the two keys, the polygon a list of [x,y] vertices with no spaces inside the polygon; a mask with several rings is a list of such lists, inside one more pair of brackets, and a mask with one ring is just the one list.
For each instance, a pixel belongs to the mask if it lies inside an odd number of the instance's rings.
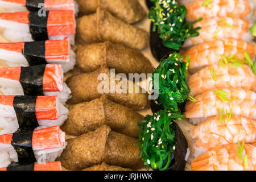
{"label": "middle mound of green seaweed salad among the three", "polygon": [[[191,90],[188,88],[186,70],[188,64],[183,62],[180,53],[172,53],[162,59],[160,65],[152,73],[152,84],[155,88],[154,75],[159,75],[159,104],[167,110],[179,111],[178,104],[185,102]],[[164,75],[162,77],[161,75]]]}

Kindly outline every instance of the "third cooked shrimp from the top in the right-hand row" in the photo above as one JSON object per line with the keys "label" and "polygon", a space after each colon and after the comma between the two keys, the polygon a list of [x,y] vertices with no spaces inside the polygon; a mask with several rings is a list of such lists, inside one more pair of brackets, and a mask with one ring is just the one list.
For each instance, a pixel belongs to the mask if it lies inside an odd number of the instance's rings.
{"label": "third cooked shrimp from the top in the right-hand row", "polygon": [[187,55],[190,58],[189,72],[195,73],[199,69],[210,64],[218,63],[221,55],[229,57],[236,55],[245,59],[244,51],[247,51],[252,60],[255,60],[256,47],[253,44],[236,39],[213,40],[194,46],[183,53],[184,61]]}

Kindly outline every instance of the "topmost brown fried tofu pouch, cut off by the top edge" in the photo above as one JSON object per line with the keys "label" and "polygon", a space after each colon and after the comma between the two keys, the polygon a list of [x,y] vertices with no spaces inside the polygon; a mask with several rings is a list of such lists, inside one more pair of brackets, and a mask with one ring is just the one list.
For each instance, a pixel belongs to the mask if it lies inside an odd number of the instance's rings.
{"label": "topmost brown fried tofu pouch, cut off by the top edge", "polygon": [[146,11],[138,0],[76,0],[81,14],[95,13],[97,7],[108,10],[126,23],[135,23],[146,17]]}

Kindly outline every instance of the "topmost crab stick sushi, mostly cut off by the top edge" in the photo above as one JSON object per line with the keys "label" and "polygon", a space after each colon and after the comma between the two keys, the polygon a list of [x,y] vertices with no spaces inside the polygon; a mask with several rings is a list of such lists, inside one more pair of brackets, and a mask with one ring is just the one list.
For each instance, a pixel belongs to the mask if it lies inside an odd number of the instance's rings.
{"label": "topmost crab stick sushi, mostly cut off by the top edge", "polygon": [[0,7],[6,10],[6,12],[16,11],[37,11],[44,4],[46,10],[73,10],[75,11],[76,6],[74,0],[1,0]]}

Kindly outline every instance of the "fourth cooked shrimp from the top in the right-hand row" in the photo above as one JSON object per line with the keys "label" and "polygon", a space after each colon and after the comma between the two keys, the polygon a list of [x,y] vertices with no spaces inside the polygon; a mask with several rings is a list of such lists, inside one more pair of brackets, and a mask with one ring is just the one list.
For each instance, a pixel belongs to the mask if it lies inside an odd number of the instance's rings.
{"label": "fourth cooked shrimp from the top in the right-hand row", "polygon": [[241,68],[229,64],[225,68],[220,64],[212,64],[189,77],[188,86],[193,96],[216,88],[233,87],[256,91],[256,74],[246,64]]}

